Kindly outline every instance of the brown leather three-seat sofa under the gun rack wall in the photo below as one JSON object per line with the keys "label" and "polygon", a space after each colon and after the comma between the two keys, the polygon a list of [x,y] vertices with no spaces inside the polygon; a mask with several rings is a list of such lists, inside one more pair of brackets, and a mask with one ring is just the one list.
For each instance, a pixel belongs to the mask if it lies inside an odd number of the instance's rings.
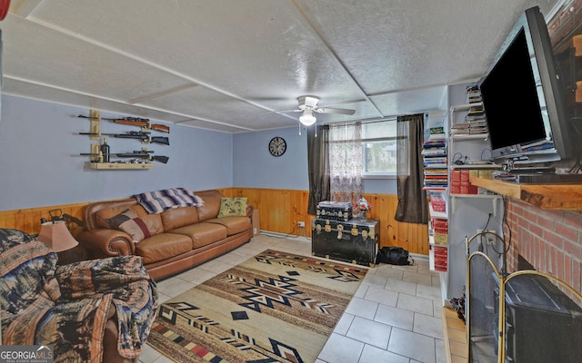
{"label": "brown leather three-seat sofa under the gun rack wall", "polygon": [[[97,201],[85,207],[85,231],[75,238],[94,258],[137,255],[144,260],[149,275],[157,280],[188,270],[248,242],[253,236],[253,207],[246,216],[217,218],[220,191],[196,191],[204,204],[148,214],[135,198]],[[124,231],[105,227],[104,220],[129,209],[151,231],[151,236],[135,243]]]}

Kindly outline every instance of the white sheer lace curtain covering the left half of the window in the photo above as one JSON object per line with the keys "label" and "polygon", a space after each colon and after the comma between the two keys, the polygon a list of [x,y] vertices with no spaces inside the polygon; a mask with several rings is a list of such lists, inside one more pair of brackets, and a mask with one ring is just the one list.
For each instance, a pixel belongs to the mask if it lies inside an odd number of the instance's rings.
{"label": "white sheer lace curtain covering the left half of the window", "polygon": [[364,193],[362,123],[329,125],[329,154],[331,199],[356,203]]}

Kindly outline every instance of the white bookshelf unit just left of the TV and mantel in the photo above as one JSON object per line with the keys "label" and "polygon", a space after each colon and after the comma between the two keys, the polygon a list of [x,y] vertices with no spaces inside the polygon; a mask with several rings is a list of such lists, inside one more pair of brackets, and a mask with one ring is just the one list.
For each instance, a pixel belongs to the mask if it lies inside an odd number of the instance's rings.
{"label": "white bookshelf unit just left of the TV and mantel", "polygon": [[[460,87],[463,87],[462,89]],[[461,91],[462,90],[462,91]],[[477,230],[502,234],[502,199],[494,192],[477,187],[471,177],[487,178],[498,166],[488,162],[491,146],[487,119],[476,85],[457,85],[449,93],[447,117],[447,269],[441,274],[445,304],[459,298],[467,286],[467,238]],[[478,248],[478,243],[475,246]],[[437,270],[437,266],[435,266]]]}

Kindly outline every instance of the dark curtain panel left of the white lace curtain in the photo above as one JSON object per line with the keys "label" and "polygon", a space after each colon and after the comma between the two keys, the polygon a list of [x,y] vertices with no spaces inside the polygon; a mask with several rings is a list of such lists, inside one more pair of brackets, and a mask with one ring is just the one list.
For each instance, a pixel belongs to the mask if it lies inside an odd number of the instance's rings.
{"label": "dark curtain panel left of the white lace curtain", "polygon": [[[309,201],[307,213],[316,215],[317,203],[329,201],[329,127],[307,129],[307,173],[309,174]],[[317,136],[316,136],[317,135]]]}

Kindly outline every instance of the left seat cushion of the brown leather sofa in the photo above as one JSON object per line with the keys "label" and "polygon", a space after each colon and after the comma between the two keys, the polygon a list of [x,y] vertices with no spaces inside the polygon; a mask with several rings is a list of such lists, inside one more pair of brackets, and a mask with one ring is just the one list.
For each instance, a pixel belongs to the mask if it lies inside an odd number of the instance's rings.
{"label": "left seat cushion of the brown leather sofa", "polygon": [[192,240],[185,234],[160,233],[135,245],[135,254],[144,263],[166,260],[192,250]]}

